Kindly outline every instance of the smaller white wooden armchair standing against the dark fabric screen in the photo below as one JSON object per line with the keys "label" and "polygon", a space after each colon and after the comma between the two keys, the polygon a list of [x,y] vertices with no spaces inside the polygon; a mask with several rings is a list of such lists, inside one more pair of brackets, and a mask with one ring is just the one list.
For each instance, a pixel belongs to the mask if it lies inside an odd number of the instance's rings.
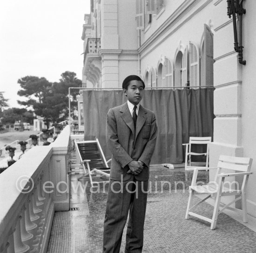
{"label": "smaller white wooden armchair standing against the dark fabric screen", "polygon": [[[182,145],[186,145],[186,153],[185,153],[185,170],[188,168],[197,168],[198,166],[191,166],[191,156],[206,156],[206,164],[202,166],[204,168],[209,167],[209,143],[211,143],[211,137],[189,137],[189,143],[183,143]],[[195,153],[191,151],[192,144],[206,144],[206,153]],[[188,159],[189,158],[189,159]]]}

